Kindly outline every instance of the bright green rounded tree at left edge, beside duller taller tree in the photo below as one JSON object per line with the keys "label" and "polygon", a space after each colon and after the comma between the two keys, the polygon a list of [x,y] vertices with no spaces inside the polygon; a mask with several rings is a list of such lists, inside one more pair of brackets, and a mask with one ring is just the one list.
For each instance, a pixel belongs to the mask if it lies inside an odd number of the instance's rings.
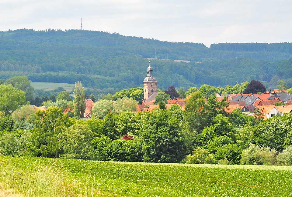
{"label": "bright green rounded tree at left edge, beside duller taller tree", "polygon": [[0,85],[0,111],[5,115],[16,110],[19,105],[26,105],[25,92],[13,87],[11,84]]}

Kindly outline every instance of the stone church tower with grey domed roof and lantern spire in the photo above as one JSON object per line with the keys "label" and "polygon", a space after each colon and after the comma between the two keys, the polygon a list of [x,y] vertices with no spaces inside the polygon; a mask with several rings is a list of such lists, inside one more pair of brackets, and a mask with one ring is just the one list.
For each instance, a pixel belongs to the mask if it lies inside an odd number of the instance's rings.
{"label": "stone church tower with grey domed roof and lantern spire", "polygon": [[147,68],[147,77],[145,77],[143,81],[144,100],[148,99],[153,93],[157,92],[157,80],[156,78],[153,77],[152,72],[153,70],[152,70],[152,67],[150,66],[150,61],[149,61],[149,66]]}

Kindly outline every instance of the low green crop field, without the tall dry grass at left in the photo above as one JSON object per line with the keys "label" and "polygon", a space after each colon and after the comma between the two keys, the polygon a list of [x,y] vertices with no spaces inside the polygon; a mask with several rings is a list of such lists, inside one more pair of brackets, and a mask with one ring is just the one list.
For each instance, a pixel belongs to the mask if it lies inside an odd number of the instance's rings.
{"label": "low green crop field, without the tall dry grass at left", "polygon": [[63,188],[90,196],[291,196],[288,166],[145,164],[75,159],[0,157],[19,171],[61,166]]}

